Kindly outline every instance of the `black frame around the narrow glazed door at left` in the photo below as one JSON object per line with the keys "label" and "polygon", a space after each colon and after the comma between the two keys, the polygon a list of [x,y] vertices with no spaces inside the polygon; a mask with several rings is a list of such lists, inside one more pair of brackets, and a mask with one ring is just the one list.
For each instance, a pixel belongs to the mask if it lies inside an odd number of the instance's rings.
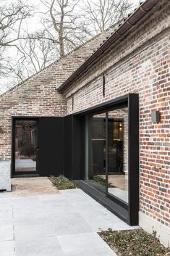
{"label": "black frame around the narrow glazed door at left", "polygon": [[[38,146],[37,146],[37,152],[36,152],[36,170],[35,172],[16,172],[15,171],[15,121],[17,120],[33,120],[36,121],[36,128],[37,133],[39,133],[39,117],[27,117],[27,116],[12,116],[12,176],[18,176],[18,175],[35,175],[38,174]],[[38,136],[37,136],[38,140]],[[37,145],[38,145],[37,141]]]}

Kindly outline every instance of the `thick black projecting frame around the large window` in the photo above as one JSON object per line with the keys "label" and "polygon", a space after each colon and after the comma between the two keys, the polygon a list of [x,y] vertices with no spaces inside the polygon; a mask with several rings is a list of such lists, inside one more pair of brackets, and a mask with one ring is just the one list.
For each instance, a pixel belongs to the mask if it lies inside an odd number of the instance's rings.
{"label": "thick black projecting frame around the large window", "polygon": [[[114,207],[111,208],[109,205],[106,205],[104,197],[93,188],[87,186],[85,183],[79,182],[79,186],[82,186],[88,194],[92,197],[96,197],[101,204],[105,205],[112,212],[118,215],[120,218],[125,220],[129,225],[136,226],[138,225],[138,212],[139,212],[139,96],[138,94],[127,94],[121,96],[117,99],[113,99],[109,102],[104,102],[95,107],[90,107],[88,110],[82,110],[73,115],[92,115],[98,114],[101,112],[107,112],[110,110],[117,110],[122,107],[128,107],[128,204],[123,202],[116,197],[109,196],[108,199],[111,199],[114,202]],[[107,130],[107,129],[106,129]],[[107,160],[106,160],[107,161]],[[84,160],[85,162],[85,160]],[[85,170],[82,169],[82,177],[85,176]],[[94,191],[94,195],[93,194]],[[103,197],[100,200],[99,197]],[[106,198],[106,197],[105,197]],[[116,209],[116,210],[115,210]],[[122,212],[124,212],[122,214]],[[124,217],[126,215],[126,217]]]}

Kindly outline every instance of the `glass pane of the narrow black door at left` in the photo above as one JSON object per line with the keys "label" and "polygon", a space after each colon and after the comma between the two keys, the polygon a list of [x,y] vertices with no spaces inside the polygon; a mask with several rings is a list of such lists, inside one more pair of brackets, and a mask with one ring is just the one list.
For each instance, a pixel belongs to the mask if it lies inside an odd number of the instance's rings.
{"label": "glass pane of the narrow black door at left", "polygon": [[15,121],[15,171],[36,171],[37,128],[34,120]]}

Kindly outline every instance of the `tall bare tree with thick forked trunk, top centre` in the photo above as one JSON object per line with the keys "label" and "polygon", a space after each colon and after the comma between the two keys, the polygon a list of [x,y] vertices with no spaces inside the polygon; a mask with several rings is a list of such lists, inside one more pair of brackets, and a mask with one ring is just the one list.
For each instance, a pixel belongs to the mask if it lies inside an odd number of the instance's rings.
{"label": "tall bare tree with thick forked trunk, top centre", "polygon": [[60,57],[64,57],[66,52],[79,46],[87,38],[80,24],[80,15],[75,12],[79,1],[41,0],[47,8],[48,17],[42,20],[43,36],[41,33],[38,36],[56,44]]}

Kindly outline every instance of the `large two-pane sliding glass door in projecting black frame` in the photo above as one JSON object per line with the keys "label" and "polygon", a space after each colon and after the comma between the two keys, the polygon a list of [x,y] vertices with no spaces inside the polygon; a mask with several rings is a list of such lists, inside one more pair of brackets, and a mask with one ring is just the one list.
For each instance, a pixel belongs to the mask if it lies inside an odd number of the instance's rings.
{"label": "large two-pane sliding glass door in projecting black frame", "polygon": [[122,220],[137,225],[138,94],[99,104],[82,115],[85,115],[85,180],[79,184]]}

